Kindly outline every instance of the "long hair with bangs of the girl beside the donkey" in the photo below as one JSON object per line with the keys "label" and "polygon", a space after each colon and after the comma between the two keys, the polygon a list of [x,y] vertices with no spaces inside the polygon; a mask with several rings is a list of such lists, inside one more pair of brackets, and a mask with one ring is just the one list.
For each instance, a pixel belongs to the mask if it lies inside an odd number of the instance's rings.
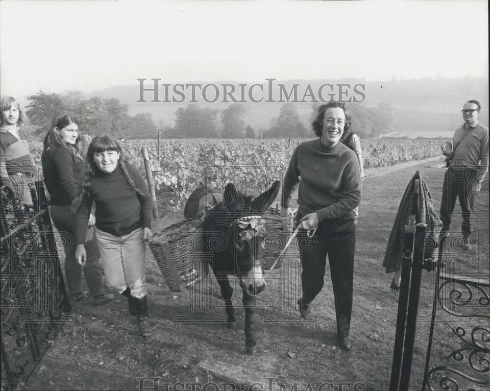
{"label": "long hair with bangs of the girl beside the donkey", "polygon": [[116,151],[119,153],[119,166],[121,167],[121,171],[123,172],[123,175],[126,178],[127,182],[134,189],[137,195],[145,195],[140,189],[136,187],[134,180],[131,178],[131,175],[127,170],[127,164],[129,163],[129,161],[117,140],[108,135],[96,136],[90,142],[87,156],[85,157],[85,163],[82,170],[82,180],[80,182],[78,194],[72,203],[72,212],[78,209],[78,207],[82,203],[83,197],[90,194],[90,184],[92,182],[92,179],[94,178],[96,173],[100,173],[100,170],[94,162],[94,154],[104,151]]}

